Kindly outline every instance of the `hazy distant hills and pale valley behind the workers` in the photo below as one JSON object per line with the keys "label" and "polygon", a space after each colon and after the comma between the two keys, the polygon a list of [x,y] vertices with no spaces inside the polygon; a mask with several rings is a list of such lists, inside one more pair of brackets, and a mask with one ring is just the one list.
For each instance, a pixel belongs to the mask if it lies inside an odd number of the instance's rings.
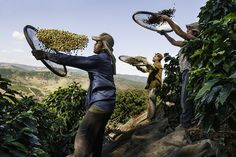
{"label": "hazy distant hills and pale valley behind the workers", "polygon": [[[84,89],[88,88],[87,72],[74,68],[67,70],[67,76],[59,77],[46,67],[0,63],[0,75],[12,81],[13,89],[39,98],[73,82],[78,82]],[[115,75],[118,90],[144,89],[146,80],[146,77],[136,75]]]}

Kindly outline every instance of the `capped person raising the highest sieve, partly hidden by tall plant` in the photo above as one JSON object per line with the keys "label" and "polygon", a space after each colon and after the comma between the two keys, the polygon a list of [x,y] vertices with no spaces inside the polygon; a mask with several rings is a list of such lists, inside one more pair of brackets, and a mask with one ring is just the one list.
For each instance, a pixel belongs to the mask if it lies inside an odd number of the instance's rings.
{"label": "capped person raising the highest sieve, partly hidden by tall plant", "polygon": [[[174,46],[183,47],[184,44],[190,40],[196,39],[199,35],[199,25],[197,22],[186,25],[187,31],[184,32],[170,17],[166,15],[161,15],[163,21],[168,22],[173,31],[183,38],[184,40],[175,40],[170,37],[167,33],[161,33],[166,37],[166,39]],[[178,53],[180,72],[182,75],[182,85],[181,85],[181,107],[182,113],[180,115],[180,125],[176,129],[189,128],[191,127],[192,119],[194,117],[194,104],[189,101],[188,98],[188,77],[189,71],[191,70],[191,65],[188,62],[186,56],[182,53],[182,49]]]}

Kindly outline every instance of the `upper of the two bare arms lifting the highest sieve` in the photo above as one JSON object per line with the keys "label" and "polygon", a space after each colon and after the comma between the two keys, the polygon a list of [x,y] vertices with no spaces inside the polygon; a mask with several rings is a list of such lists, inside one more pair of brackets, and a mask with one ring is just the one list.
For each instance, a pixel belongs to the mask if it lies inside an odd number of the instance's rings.
{"label": "upper of the two bare arms lifting the highest sieve", "polygon": [[176,23],[174,23],[174,21],[166,16],[166,15],[161,15],[161,19],[163,21],[166,21],[168,22],[168,24],[170,25],[170,27],[173,29],[173,31],[178,35],[180,36],[181,38],[185,39],[185,40],[191,40],[191,39],[195,39],[196,37],[191,35],[191,34],[188,34],[186,32],[184,32]]}

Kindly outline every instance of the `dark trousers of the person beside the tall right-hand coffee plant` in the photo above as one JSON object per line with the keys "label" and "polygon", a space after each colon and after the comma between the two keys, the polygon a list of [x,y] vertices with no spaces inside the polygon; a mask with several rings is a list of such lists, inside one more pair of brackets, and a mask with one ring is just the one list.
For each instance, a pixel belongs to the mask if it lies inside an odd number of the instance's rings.
{"label": "dark trousers of the person beside the tall right-hand coffee plant", "polygon": [[189,77],[189,70],[184,70],[182,73],[182,88],[181,88],[181,101],[180,101],[182,113],[180,115],[180,123],[185,128],[190,127],[191,120],[194,116],[194,105],[190,100],[187,99],[188,77]]}

